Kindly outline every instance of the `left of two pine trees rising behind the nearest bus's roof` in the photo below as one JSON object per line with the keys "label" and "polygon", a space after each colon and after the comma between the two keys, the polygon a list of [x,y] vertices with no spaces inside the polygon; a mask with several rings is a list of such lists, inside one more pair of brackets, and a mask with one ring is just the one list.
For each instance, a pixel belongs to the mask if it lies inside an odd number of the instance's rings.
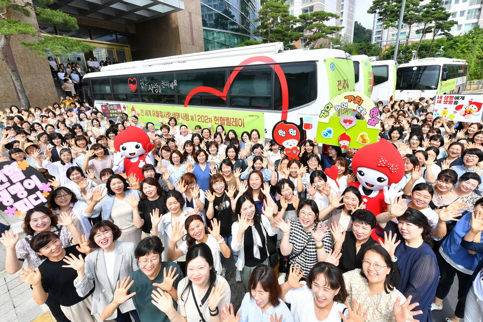
{"label": "left of two pine trees rising behind the nearest bus's roof", "polygon": [[256,29],[263,43],[280,41],[286,49],[295,48],[290,42],[303,36],[303,28],[295,26],[299,20],[288,10],[289,6],[283,0],[268,0],[263,3],[258,11],[258,18],[255,19],[260,23]]}

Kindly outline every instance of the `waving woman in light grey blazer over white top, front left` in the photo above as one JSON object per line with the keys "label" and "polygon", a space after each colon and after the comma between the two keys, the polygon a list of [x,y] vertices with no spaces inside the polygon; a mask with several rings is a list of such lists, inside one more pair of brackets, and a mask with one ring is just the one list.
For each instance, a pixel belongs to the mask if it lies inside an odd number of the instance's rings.
{"label": "waving woman in light grey blazer over white top, front left", "polygon": [[[94,289],[91,314],[101,314],[114,296],[114,289],[118,280],[122,280],[137,269],[134,257],[134,244],[119,241],[121,229],[108,220],[103,220],[92,227],[88,245],[94,251],[84,260],[80,258],[66,258],[70,267],[77,271],[74,280],[77,295],[85,297]],[[85,261],[85,262],[84,262]],[[132,316],[139,322],[139,316],[134,309],[132,300],[127,300],[119,306],[109,320],[130,322]]]}

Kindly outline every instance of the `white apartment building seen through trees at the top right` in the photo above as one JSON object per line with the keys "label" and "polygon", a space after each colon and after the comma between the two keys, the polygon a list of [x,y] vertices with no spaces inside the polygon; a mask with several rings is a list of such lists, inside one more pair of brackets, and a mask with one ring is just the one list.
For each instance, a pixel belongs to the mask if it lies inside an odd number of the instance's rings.
{"label": "white apartment building seen through trees at the top right", "polygon": [[[429,0],[421,1],[420,8],[422,9]],[[443,0],[441,5],[451,13],[451,20],[457,21],[450,33],[453,36],[465,33],[473,29],[475,26],[483,26],[482,0]],[[397,23],[393,27],[387,29],[382,28],[382,23],[378,21],[379,16],[374,14],[373,28],[372,28],[372,43],[381,43],[382,47],[393,45],[396,41]],[[401,27],[400,40],[410,42],[419,41],[422,37],[419,29],[422,27],[421,23],[414,24],[409,30],[409,25],[403,24]],[[423,39],[431,39],[432,33],[424,35]]]}

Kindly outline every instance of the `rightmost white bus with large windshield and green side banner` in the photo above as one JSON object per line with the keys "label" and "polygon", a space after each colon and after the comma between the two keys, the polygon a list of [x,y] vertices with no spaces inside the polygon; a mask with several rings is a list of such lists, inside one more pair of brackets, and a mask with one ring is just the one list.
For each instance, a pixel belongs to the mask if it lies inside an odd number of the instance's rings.
{"label": "rightmost white bus with large windshield and green side banner", "polygon": [[396,100],[435,97],[438,94],[460,94],[468,75],[463,59],[422,58],[401,64],[396,73]]}

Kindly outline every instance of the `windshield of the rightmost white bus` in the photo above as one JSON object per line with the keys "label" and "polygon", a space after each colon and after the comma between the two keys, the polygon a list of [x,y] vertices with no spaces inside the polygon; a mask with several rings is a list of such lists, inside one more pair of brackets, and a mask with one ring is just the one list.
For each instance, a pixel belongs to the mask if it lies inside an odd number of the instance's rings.
{"label": "windshield of the rightmost white bus", "polygon": [[396,90],[436,90],[441,66],[409,66],[397,69]]}

